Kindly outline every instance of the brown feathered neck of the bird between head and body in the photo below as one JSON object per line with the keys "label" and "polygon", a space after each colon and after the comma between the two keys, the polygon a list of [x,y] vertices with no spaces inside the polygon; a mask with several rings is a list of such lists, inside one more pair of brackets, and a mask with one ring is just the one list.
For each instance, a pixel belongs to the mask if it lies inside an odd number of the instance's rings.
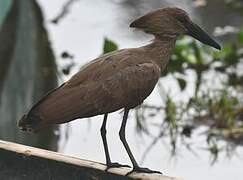
{"label": "brown feathered neck of the bird between head and body", "polygon": [[144,46],[146,54],[161,68],[161,71],[164,70],[170,60],[175,41],[175,37],[155,37],[152,43]]}

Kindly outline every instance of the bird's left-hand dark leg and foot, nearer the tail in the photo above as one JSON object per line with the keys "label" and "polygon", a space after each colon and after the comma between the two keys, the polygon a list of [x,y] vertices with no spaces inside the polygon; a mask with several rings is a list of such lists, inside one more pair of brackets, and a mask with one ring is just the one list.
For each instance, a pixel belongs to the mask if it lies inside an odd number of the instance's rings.
{"label": "bird's left-hand dark leg and foot, nearer the tail", "polygon": [[106,158],[106,165],[107,165],[107,169],[112,168],[112,167],[130,167],[128,165],[122,165],[119,163],[112,163],[111,159],[110,159],[110,153],[108,150],[108,145],[107,145],[107,140],[106,140],[106,122],[107,122],[107,116],[108,114],[104,115],[104,120],[102,123],[102,126],[100,128],[100,133],[101,133],[101,137],[102,137],[102,141],[103,141],[103,145],[104,145],[104,150],[105,150],[105,158]]}

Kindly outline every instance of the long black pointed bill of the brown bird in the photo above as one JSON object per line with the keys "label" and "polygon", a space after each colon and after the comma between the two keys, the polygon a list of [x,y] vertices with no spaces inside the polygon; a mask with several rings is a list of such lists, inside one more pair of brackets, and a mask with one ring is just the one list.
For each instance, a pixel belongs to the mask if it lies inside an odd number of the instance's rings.
{"label": "long black pointed bill of the brown bird", "polygon": [[202,30],[198,25],[191,23],[187,27],[187,35],[194,37],[200,42],[212,46],[216,49],[221,49],[220,45],[213,40],[204,30]]}

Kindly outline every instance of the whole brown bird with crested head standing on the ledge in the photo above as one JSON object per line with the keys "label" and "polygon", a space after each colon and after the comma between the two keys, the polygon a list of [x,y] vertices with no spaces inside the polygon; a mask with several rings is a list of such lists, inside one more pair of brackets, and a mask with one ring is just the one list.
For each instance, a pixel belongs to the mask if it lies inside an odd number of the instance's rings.
{"label": "whole brown bird with crested head standing on the ledge", "polygon": [[118,50],[91,61],[69,81],[37,102],[18,126],[32,132],[47,125],[104,114],[101,136],[106,164],[119,167],[123,165],[110,160],[106,122],[108,113],[124,108],[119,135],[133,164],[133,171],[156,172],[141,168],[128,146],[125,128],[129,110],[140,105],[153,91],[179,35],[190,35],[216,49],[220,49],[220,45],[179,8],[152,11],[132,22],[130,27],[141,29],[155,38],[146,46]]}

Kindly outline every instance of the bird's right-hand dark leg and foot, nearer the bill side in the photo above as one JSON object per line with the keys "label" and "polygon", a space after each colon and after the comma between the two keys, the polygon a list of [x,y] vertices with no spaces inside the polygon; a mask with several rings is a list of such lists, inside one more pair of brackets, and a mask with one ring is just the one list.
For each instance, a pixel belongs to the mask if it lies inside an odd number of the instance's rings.
{"label": "bird's right-hand dark leg and foot, nearer the bill side", "polygon": [[124,111],[124,116],[123,116],[123,120],[122,120],[122,124],[121,124],[121,128],[120,128],[120,131],[119,131],[119,135],[120,135],[120,139],[127,151],[127,154],[132,162],[132,165],[133,165],[133,170],[131,172],[129,172],[128,174],[132,173],[132,172],[144,172],[144,173],[159,173],[161,174],[161,172],[159,171],[153,171],[153,170],[150,170],[148,168],[142,168],[138,165],[137,161],[135,160],[132,152],[131,152],[131,149],[126,141],[126,124],[127,124],[127,118],[128,118],[128,113],[129,113],[129,109],[126,109],[125,108],[125,111]]}

